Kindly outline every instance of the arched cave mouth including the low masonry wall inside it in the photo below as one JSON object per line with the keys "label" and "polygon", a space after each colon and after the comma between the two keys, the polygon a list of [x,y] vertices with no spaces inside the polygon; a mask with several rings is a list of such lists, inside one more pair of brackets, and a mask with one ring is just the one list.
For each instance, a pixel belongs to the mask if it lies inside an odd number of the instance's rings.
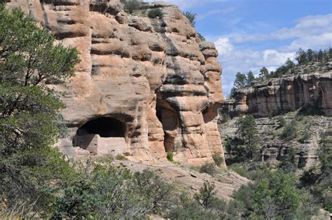
{"label": "arched cave mouth including the low masonry wall inside it", "polygon": [[100,117],[92,119],[78,128],[73,146],[95,154],[120,152],[127,144],[127,125],[116,118]]}

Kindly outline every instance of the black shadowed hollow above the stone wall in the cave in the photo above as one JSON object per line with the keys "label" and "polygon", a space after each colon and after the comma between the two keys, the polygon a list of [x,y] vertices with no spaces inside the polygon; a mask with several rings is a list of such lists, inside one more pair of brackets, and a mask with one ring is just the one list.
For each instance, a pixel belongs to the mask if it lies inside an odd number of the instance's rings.
{"label": "black shadowed hollow above the stone wall in the cave", "polygon": [[100,117],[88,121],[77,130],[78,136],[99,135],[100,137],[125,137],[125,123],[116,118]]}

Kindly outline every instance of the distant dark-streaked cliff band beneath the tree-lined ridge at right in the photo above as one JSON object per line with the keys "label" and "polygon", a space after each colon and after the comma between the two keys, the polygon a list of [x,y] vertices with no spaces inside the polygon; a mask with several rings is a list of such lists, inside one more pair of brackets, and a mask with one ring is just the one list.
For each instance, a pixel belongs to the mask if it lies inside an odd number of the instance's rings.
{"label": "distant dark-streaked cliff band beneath the tree-lined ridge at right", "polygon": [[324,67],[313,63],[295,71],[298,74],[271,78],[237,90],[235,100],[226,101],[223,110],[230,116],[270,117],[310,105],[332,116],[332,61]]}

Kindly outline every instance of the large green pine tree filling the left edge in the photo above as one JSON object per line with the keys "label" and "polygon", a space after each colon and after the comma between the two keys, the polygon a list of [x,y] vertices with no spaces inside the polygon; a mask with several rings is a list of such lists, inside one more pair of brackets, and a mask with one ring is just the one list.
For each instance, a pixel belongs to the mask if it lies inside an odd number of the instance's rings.
{"label": "large green pine tree filling the left edge", "polygon": [[64,104],[46,84],[73,76],[78,53],[18,8],[0,4],[0,20],[0,191],[9,206],[47,210],[50,179],[71,169],[53,149]]}

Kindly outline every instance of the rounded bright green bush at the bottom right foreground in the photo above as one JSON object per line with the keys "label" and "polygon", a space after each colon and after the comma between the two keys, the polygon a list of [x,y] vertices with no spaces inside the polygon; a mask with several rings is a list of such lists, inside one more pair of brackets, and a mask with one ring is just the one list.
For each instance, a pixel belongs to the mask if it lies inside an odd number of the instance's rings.
{"label": "rounded bright green bush at the bottom right foreground", "polygon": [[307,205],[307,193],[296,188],[296,177],[282,170],[268,172],[263,179],[241,186],[233,197],[228,214],[241,214],[244,219],[297,219],[304,212],[314,212]]}

